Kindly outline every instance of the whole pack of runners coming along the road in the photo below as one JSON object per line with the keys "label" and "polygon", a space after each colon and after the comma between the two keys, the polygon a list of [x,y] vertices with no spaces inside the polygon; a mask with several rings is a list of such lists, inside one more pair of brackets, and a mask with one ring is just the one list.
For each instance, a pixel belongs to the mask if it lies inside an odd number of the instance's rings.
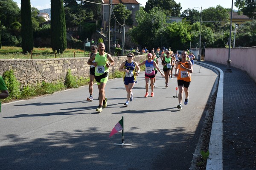
{"label": "whole pack of runners coming along the road", "polygon": [[[87,98],[88,101],[93,101],[93,81],[96,80],[99,89],[99,106],[96,108],[97,112],[102,112],[102,108],[107,107],[108,99],[105,97],[105,86],[108,82],[108,69],[115,64],[115,61],[110,54],[105,52],[105,44],[99,43],[98,46],[91,45],[90,59],[87,64],[90,65],[90,83],[89,93],[90,96]],[[137,50],[137,49],[136,49]],[[176,52],[175,54],[171,49],[154,48],[151,53],[148,52],[147,48],[143,48],[143,53],[147,53],[147,59],[140,64],[135,62],[134,54],[128,53],[125,62],[119,67],[119,71],[123,72],[123,82],[125,90],[127,92],[127,100],[124,105],[128,106],[129,102],[133,101],[132,89],[137,82],[137,76],[140,74],[140,66],[145,65],[145,97],[148,97],[149,85],[151,88],[150,96],[154,97],[154,87],[156,87],[156,74],[159,72],[162,77],[165,78],[165,87],[168,88],[169,79],[172,76],[177,77],[177,85],[179,89],[178,94],[178,109],[182,109],[182,96],[183,91],[185,92],[184,105],[189,103],[189,85],[191,82],[191,74],[193,72],[193,60],[195,56],[190,51],[183,51],[181,56]],[[146,51],[145,51],[146,50]],[[163,72],[158,67],[159,61],[163,65]],[[175,70],[174,70],[175,69]],[[173,73],[173,71],[175,71]],[[150,82],[149,82],[150,80]]]}

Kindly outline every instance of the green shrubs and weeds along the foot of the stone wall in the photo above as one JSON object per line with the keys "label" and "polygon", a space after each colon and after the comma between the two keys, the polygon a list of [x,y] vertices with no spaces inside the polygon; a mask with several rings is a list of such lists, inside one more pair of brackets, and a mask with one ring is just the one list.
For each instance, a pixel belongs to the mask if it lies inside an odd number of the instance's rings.
{"label": "green shrubs and weeds along the foot of the stone wall", "polygon": [[[114,71],[109,74],[109,79],[122,77],[122,72]],[[89,77],[73,76],[71,70],[67,72],[65,80],[57,82],[38,82],[36,85],[26,85],[20,88],[20,82],[14,75],[14,71],[9,70],[3,73],[3,79],[6,82],[6,87],[9,91],[9,97],[2,100],[4,102],[11,102],[14,100],[31,99],[35,96],[42,96],[47,94],[54,94],[57,91],[62,91],[68,88],[79,88],[80,86],[89,84]],[[94,81],[95,82],[95,81]]]}

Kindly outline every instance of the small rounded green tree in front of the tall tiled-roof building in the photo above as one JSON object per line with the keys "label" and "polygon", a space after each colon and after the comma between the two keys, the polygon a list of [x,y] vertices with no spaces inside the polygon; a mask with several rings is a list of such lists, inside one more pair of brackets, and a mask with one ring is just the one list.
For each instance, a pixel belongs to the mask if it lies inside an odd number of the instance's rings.
{"label": "small rounded green tree in front of the tall tiled-roof building", "polygon": [[[126,6],[123,5],[122,3],[119,3],[118,5],[114,6],[113,8],[113,13],[116,16],[116,24],[119,26],[119,30],[121,29],[121,26],[118,24],[120,23],[121,25],[124,24],[128,26],[132,26],[133,21],[131,19],[131,11],[126,9]],[[112,14],[111,18],[114,17]],[[115,25],[115,20],[111,20],[111,26]]]}

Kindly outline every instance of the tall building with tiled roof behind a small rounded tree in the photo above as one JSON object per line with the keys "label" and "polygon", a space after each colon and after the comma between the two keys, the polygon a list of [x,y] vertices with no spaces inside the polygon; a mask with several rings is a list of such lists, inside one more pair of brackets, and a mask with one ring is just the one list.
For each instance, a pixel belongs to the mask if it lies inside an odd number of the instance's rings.
{"label": "tall building with tiled roof behind a small rounded tree", "polygon": [[[102,3],[109,5],[110,0],[102,0]],[[122,3],[127,9],[131,10],[131,17],[133,19],[134,25],[136,26],[135,13],[140,9],[140,3],[137,0],[112,0],[112,8],[115,5]],[[105,30],[108,26],[109,20],[109,6],[102,6],[102,28]],[[121,23],[122,24],[122,23]]]}

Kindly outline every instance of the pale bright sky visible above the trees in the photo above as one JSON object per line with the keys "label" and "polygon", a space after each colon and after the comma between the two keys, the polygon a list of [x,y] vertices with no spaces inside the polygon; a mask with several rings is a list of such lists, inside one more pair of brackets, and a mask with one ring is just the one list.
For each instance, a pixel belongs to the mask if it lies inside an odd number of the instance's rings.
{"label": "pale bright sky visible above the trees", "polygon": [[[13,1],[17,2],[18,6],[20,7],[21,0]],[[142,4],[142,6],[145,6],[147,1],[148,0],[137,0],[138,3]],[[233,1],[235,2],[235,0]],[[224,8],[231,8],[232,6],[232,0],[175,0],[175,2],[180,3],[180,6],[182,7],[182,10],[180,12],[183,12],[185,9],[188,8],[192,9],[194,7],[202,7],[202,10],[204,10],[209,7],[216,7],[217,5],[220,5]],[[38,8],[39,10],[51,8],[51,0],[30,0],[30,3],[31,6]],[[233,10],[237,10],[237,8],[233,6]]]}

